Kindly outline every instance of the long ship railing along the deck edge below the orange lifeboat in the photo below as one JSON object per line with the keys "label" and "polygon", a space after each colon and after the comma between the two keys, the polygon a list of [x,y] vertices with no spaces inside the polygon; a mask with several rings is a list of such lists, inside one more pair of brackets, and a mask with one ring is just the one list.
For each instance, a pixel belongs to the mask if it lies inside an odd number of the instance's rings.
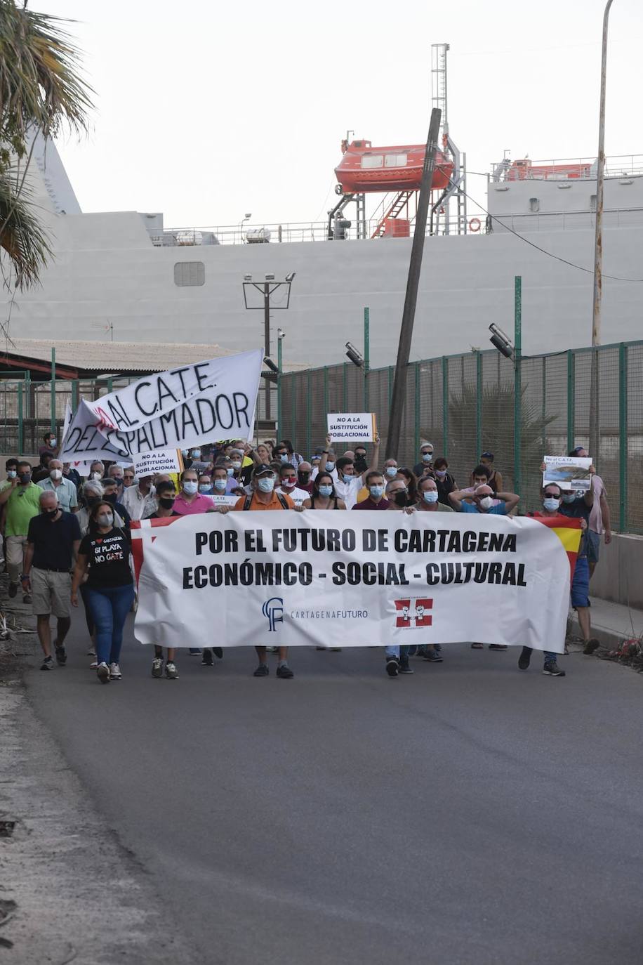
{"label": "long ship railing along the deck edge below the orange lifeboat", "polygon": [[[367,218],[358,225],[355,218],[350,228],[342,229],[343,238],[336,240],[356,240],[370,238],[379,221],[377,218]],[[436,234],[466,234],[467,225],[457,217],[450,217],[446,221],[441,217]],[[475,230],[475,228],[474,228]],[[484,232],[484,219],[482,220]],[[413,235],[414,226],[411,224],[410,233]],[[335,240],[328,236],[328,221],[285,222],[281,224],[264,225],[208,225],[195,228],[172,228],[163,232],[149,231],[151,243],[156,248],[198,247],[201,245],[217,244],[279,244],[280,242],[328,241]],[[426,234],[430,234],[427,226]],[[386,234],[382,241],[395,240]]]}

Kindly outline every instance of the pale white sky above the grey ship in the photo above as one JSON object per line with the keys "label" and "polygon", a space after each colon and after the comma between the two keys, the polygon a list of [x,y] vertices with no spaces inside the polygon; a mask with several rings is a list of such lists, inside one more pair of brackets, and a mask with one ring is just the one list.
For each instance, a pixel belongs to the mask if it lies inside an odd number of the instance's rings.
{"label": "pale white sky above the grey ship", "polygon": [[[91,132],[59,139],[84,211],[162,211],[166,228],[321,221],[348,129],[422,143],[431,44],[447,42],[448,120],[469,195],[508,150],[594,157],[603,0],[30,0],[76,20]],[[342,11],[344,12],[342,14]],[[643,154],[643,5],[614,0],[607,154]],[[634,124],[634,126],[632,126]]]}

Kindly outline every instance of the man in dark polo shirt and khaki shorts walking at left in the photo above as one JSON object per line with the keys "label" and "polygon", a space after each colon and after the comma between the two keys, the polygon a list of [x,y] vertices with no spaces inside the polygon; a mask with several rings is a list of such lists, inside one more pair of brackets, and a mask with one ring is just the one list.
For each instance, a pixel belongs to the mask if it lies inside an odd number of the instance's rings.
{"label": "man in dark polo shirt and khaki shorts walking at left", "polygon": [[80,544],[80,526],[75,515],[63,512],[51,489],[40,493],[40,514],[29,523],[27,548],[22,567],[22,592],[30,593],[38,620],[38,638],[43,660],[40,670],[52,670],[49,617],[58,619],[54,641],[56,661],[67,663],[65,638],[71,613],[70,570]]}

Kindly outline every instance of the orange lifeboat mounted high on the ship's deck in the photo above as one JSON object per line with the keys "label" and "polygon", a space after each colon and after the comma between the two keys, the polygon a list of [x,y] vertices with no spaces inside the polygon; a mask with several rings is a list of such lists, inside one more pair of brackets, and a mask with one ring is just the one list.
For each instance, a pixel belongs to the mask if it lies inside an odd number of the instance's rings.
{"label": "orange lifeboat mounted high on the ship's deck", "polygon": [[[370,141],[341,142],[343,157],[335,168],[342,194],[375,191],[418,191],[424,167],[424,144],[373,148]],[[453,174],[453,162],[436,152],[432,188],[443,190]]]}

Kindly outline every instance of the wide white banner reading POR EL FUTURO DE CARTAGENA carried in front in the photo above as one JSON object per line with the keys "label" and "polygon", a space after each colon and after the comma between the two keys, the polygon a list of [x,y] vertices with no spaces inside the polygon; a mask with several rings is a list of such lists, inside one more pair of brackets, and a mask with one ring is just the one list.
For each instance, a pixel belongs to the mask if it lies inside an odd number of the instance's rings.
{"label": "wide white banner reading POR EL FUTURO DE CARTAGENA carried in front", "polygon": [[562,653],[578,520],[445,515],[282,510],[133,523],[135,635],[175,647],[188,623],[216,624],[228,647],[479,641]]}

